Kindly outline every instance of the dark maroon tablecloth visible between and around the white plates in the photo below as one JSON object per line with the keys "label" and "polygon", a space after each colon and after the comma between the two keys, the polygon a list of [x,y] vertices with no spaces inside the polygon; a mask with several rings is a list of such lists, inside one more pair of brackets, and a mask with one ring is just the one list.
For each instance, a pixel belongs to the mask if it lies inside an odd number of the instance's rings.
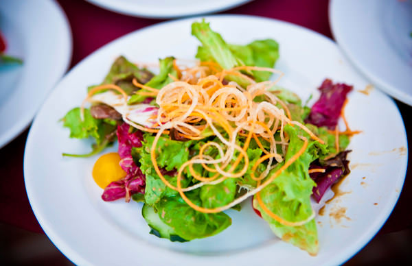
{"label": "dark maroon tablecloth visible between and around the white plates", "polygon": [[[71,67],[111,40],[142,27],[164,20],[141,19],[110,12],[82,0],[58,0],[67,15],[73,35]],[[220,14],[250,14],[288,21],[312,29],[333,39],[328,20],[328,0],[255,0]],[[412,107],[396,101],[404,118],[411,150],[412,123],[407,119]],[[0,221],[31,232],[43,233],[27,199],[23,178],[23,154],[28,130],[0,149]],[[41,155],[41,152],[40,154]],[[408,165],[410,166],[411,158]],[[400,199],[391,216],[380,229],[383,234],[411,230],[409,203],[412,195],[412,173],[408,167]],[[391,256],[391,254],[389,254]],[[347,263],[350,263],[348,261]]]}

